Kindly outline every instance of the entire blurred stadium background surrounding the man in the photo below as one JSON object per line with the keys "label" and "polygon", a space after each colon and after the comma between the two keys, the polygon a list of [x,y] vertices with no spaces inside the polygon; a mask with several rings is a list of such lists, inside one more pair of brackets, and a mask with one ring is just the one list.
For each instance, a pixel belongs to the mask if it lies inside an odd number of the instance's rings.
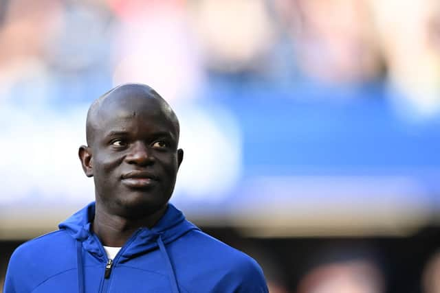
{"label": "entire blurred stadium background surrounding the man", "polygon": [[172,202],[271,293],[440,292],[440,1],[0,0],[0,287],[94,199],[89,104],[175,108]]}

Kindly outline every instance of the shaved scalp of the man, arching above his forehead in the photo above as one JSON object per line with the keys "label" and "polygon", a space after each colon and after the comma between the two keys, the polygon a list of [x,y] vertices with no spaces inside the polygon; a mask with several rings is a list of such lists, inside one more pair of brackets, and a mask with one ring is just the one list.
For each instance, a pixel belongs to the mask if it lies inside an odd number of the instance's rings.
{"label": "shaved scalp of the man, arching above his forehead", "polygon": [[[91,104],[87,112],[86,136],[87,145],[91,146],[94,141],[96,130],[102,115],[111,115],[109,111],[117,111],[126,103],[132,103],[134,99],[148,101],[151,104],[152,113],[165,115],[175,126],[177,139],[179,137],[179,120],[168,103],[150,86],[146,84],[122,84],[107,91]],[[133,113],[135,115],[135,113]]]}

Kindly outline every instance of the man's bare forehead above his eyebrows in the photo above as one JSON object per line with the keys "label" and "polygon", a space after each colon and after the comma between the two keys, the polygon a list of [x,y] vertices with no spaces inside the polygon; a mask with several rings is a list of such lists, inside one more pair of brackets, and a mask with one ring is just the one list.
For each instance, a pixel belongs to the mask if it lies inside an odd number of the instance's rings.
{"label": "man's bare forehead above his eyebrows", "polygon": [[142,95],[113,96],[104,99],[94,119],[96,134],[112,131],[170,132],[177,138],[177,126],[169,107],[154,97]]}

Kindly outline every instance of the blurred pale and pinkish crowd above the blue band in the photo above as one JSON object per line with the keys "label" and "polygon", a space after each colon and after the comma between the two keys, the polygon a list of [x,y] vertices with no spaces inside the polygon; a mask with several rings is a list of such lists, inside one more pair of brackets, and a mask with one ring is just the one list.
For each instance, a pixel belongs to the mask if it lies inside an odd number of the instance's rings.
{"label": "blurred pale and pinkish crowd above the blue band", "polygon": [[0,21],[2,103],[146,82],[167,99],[246,86],[440,108],[436,0],[2,0]]}

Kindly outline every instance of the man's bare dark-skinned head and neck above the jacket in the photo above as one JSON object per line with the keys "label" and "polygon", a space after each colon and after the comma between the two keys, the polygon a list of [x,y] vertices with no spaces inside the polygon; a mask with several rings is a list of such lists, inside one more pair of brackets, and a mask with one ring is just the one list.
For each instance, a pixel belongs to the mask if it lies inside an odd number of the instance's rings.
{"label": "man's bare dark-skinned head and neck above the jacket", "polygon": [[164,215],[184,156],[178,142],[177,117],[148,86],[125,84],[92,104],[78,154],[94,177],[93,230],[104,246],[123,246]]}

